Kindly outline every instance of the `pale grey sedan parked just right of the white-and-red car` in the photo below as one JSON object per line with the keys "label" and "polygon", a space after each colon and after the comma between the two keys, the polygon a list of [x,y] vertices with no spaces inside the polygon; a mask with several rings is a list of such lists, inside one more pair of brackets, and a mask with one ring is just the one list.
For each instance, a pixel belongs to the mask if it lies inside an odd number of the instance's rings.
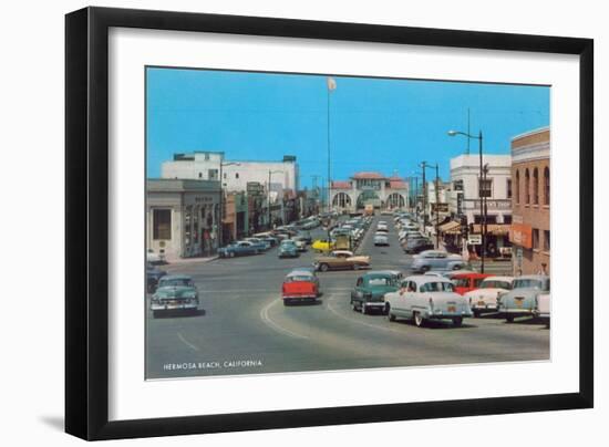
{"label": "pale grey sedan parked just right of the white-and-red car", "polygon": [[535,315],[537,297],[550,291],[550,279],[543,274],[527,274],[514,279],[513,289],[499,298],[499,312],[508,323],[516,316]]}

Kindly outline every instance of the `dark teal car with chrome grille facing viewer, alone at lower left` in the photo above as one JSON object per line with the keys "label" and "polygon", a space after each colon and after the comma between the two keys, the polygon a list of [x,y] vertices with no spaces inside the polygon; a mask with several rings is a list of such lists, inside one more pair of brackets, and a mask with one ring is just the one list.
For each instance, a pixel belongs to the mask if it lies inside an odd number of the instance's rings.
{"label": "dark teal car with chrome grille facing viewer, alone at lower left", "polygon": [[158,287],[151,299],[153,316],[163,312],[196,312],[199,295],[190,277],[185,274],[166,274],[158,280]]}

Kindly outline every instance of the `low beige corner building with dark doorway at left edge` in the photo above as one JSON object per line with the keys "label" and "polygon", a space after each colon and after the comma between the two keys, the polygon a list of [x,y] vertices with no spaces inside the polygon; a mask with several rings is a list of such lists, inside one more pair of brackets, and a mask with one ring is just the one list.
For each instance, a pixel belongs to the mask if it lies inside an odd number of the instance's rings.
{"label": "low beige corner building with dark doorway at left edge", "polygon": [[168,261],[216,252],[219,181],[148,179],[146,188],[147,250]]}

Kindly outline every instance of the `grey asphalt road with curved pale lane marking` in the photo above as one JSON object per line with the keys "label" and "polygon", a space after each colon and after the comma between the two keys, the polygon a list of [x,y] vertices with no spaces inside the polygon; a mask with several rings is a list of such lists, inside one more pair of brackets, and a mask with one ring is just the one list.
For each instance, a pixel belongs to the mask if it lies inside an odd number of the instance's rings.
{"label": "grey asphalt road with curved pale lane marking", "polygon": [[[378,220],[390,226],[390,247],[373,246]],[[371,256],[371,270],[409,273],[412,258],[400,248],[391,216],[375,218],[359,251]],[[157,319],[148,312],[146,377],[549,358],[549,331],[530,319],[506,324],[487,315],[466,319],[461,328],[450,322],[416,328],[354,312],[350,291],[362,271],[318,273],[323,292],[318,304],[283,306],[283,277],[295,267],[311,266],[314,256],[309,250],[298,259],[278,259],[273,248],[251,257],[166,266],[167,272],[193,277],[202,310]]]}

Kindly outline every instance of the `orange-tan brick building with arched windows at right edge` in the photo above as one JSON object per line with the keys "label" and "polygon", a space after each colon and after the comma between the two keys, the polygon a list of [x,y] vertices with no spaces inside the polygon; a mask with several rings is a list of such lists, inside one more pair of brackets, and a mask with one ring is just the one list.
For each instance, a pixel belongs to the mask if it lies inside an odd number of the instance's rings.
{"label": "orange-tan brick building with arched windows at right edge", "polygon": [[550,273],[550,131],[512,139],[515,274]]}

